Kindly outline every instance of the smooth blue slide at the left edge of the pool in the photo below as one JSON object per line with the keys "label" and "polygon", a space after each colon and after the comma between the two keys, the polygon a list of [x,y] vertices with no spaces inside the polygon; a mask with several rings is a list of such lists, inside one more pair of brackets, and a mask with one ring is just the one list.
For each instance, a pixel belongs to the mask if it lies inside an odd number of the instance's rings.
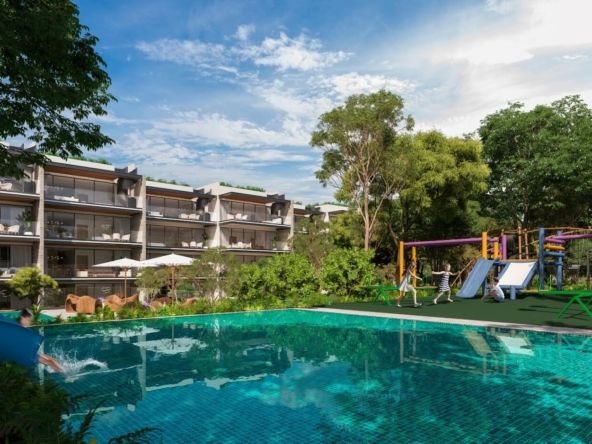
{"label": "smooth blue slide at the left edge of the pool", "polygon": [[0,338],[0,362],[14,361],[28,369],[37,364],[37,351],[43,336],[0,316]]}

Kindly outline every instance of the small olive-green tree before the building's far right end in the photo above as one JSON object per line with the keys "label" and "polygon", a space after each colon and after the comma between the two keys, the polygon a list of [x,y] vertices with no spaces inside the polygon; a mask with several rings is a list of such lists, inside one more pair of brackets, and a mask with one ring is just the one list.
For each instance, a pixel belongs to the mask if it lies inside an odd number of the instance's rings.
{"label": "small olive-green tree before the building's far right end", "polygon": [[290,239],[293,251],[308,259],[317,270],[331,249],[329,224],[315,217],[305,217],[296,224],[294,236]]}

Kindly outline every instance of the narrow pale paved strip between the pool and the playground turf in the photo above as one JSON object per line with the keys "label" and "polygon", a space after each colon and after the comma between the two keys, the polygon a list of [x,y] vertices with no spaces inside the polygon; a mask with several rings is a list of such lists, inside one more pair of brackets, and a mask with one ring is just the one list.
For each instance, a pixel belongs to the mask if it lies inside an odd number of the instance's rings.
{"label": "narrow pale paved strip between the pool and the playground turf", "polygon": [[530,324],[512,324],[507,322],[491,322],[491,321],[473,321],[469,319],[450,319],[450,318],[436,318],[432,316],[411,316],[396,313],[372,313],[367,311],[359,310],[339,310],[336,308],[308,308],[306,310],[311,311],[323,311],[326,313],[339,313],[349,314],[358,316],[375,316],[378,318],[393,318],[393,319],[405,319],[409,321],[426,321],[426,322],[439,322],[441,324],[460,324],[460,325],[475,325],[478,327],[494,327],[494,328],[514,328],[517,330],[531,330],[531,331],[542,331],[546,333],[563,333],[569,335],[582,335],[592,336],[592,330],[584,330],[580,328],[567,328],[567,327],[550,327],[546,325],[530,325]]}

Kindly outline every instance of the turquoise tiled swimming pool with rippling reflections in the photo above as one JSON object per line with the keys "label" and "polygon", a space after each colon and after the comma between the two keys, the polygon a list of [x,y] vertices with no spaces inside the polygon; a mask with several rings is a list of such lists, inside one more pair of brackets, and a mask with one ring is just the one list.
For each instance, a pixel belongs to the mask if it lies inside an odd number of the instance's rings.
{"label": "turquoise tiled swimming pool with rippling reflections", "polygon": [[[590,443],[592,338],[287,310],[45,327],[99,442]],[[74,417],[74,421],[80,417]],[[156,441],[158,442],[158,441]]]}

